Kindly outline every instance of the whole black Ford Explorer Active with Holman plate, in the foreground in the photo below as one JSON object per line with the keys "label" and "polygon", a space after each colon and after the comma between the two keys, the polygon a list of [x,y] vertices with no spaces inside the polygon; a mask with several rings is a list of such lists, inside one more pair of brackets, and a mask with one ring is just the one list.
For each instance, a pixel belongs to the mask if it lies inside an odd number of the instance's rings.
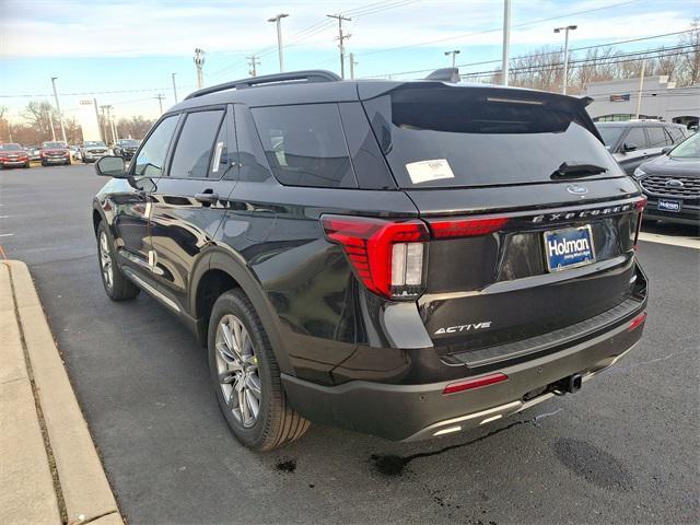
{"label": "whole black Ford Explorer Active with Holman plate, in the foreground", "polygon": [[[585,101],[281,73],[200,90],[94,199],[104,288],[208,348],[235,436],[463,431],[640,339],[645,199]],[[450,79],[451,75],[446,75]]]}

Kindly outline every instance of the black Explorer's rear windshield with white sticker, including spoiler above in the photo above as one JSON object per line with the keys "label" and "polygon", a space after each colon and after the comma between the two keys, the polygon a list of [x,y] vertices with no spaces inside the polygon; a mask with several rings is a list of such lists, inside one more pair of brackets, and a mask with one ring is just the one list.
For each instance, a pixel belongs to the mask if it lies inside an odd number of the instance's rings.
{"label": "black Explorer's rear windshield with white sticker, including spoiler above", "polygon": [[424,84],[364,102],[399,187],[549,182],[564,162],[608,170],[598,177],[619,174],[578,106],[497,93]]}

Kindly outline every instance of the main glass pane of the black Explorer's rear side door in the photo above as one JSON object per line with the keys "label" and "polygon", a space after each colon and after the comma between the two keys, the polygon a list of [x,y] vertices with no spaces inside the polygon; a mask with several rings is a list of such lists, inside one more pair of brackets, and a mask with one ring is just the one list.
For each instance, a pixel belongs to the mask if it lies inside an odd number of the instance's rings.
{"label": "main glass pane of the black Explorer's rear side door", "polygon": [[209,174],[209,159],[214,148],[214,138],[223,117],[223,109],[198,112],[187,115],[187,120],[177,139],[171,177],[205,178]]}

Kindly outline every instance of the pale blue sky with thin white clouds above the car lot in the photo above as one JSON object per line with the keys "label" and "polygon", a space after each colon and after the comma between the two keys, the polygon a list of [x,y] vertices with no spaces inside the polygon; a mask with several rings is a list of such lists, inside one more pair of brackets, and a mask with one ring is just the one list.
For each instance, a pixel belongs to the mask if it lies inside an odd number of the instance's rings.
{"label": "pale blue sky with thin white clouds above the car lot", "polygon": [[[511,57],[562,45],[553,28],[576,24],[571,47],[675,33],[700,16],[695,0],[512,0]],[[117,118],[160,115],[196,89],[194,50],[206,50],[205,85],[248,75],[246,57],[257,55],[258,74],[279,71],[277,33],[282,20],[285,70],[339,72],[337,22],[355,77],[447,67],[445,51],[458,49],[460,72],[499,66],[503,0],[0,0],[0,105],[21,121],[30,101],[60,103],[75,116],[81,98],[110,104]],[[620,44],[623,51],[673,45],[678,36]],[[497,60],[488,66],[476,65]],[[349,68],[349,66],[346,66]],[[408,73],[395,78],[420,78]]]}

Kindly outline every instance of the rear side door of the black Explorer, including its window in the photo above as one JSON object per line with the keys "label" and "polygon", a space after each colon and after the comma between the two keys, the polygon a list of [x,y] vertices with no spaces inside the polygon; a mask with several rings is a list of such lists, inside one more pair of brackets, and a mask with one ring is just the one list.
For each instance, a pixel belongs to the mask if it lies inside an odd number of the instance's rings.
{"label": "rear side door of the black Explorer, including its window", "polygon": [[153,273],[161,292],[186,310],[189,279],[224,217],[236,179],[231,107],[186,113],[167,176],[152,194]]}

